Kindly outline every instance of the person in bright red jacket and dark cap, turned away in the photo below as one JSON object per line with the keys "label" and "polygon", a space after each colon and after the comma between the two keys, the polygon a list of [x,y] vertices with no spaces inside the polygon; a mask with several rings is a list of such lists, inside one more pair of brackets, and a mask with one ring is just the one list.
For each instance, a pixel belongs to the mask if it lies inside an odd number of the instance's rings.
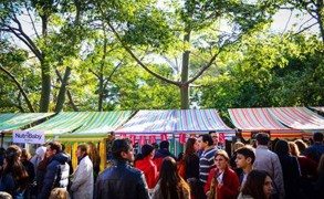
{"label": "person in bright red jacket and dark cap, turned away", "polygon": [[151,145],[143,145],[142,158],[135,163],[135,167],[144,172],[149,189],[156,186],[158,179],[157,167],[153,161],[154,154],[155,149]]}

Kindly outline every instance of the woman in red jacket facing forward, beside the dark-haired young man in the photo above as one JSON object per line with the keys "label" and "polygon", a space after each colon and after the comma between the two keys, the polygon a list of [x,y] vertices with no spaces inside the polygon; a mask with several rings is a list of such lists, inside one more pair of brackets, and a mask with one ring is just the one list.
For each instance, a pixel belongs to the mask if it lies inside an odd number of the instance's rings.
{"label": "woman in red jacket facing forward, beside the dark-haired young man", "polygon": [[229,156],[224,150],[215,154],[216,168],[211,169],[205,185],[208,198],[237,199],[240,181],[236,171],[229,168]]}

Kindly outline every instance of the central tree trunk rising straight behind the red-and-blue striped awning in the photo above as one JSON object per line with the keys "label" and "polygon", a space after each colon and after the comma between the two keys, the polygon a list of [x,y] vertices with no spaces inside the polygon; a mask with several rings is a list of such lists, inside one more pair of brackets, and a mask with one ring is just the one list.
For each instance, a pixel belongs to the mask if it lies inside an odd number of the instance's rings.
{"label": "central tree trunk rising straight behind the red-and-blue striped awning", "polygon": [[[186,29],[186,33],[184,36],[184,42],[187,43],[190,41],[190,29]],[[189,56],[190,51],[186,50],[182,53],[182,69],[181,69],[181,85],[180,85],[180,97],[181,97],[181,109],[188,109],[189,108],[189,84],[188,76],[189,76]]]}

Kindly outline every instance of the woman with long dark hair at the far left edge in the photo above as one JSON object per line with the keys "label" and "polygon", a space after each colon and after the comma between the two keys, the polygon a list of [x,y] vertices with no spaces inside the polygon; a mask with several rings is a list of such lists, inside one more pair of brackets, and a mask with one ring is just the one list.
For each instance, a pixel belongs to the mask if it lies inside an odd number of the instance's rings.
{"label": "woman with long dark hair at the far left edge", "polygon": [[21,149],[11,145],[6,150],[0,191],[9,192],[13,198],[23,197],[29,185],[28,172],[20,161]]}

